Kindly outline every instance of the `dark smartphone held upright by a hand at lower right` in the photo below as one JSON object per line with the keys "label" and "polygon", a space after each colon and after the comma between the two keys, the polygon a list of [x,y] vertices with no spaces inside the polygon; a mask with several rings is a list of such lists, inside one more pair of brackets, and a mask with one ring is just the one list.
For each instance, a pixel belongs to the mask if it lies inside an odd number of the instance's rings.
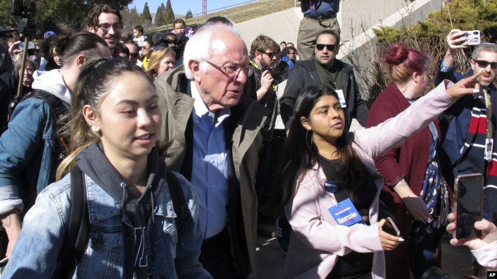
{"label": "dark smartphone held upright by a hand at lower right", "polygon": [[456,238],[472,239],[481,236],[475,222],[482,220],[483,175],[464,174],[454,182],[454,211],[456,212]]}

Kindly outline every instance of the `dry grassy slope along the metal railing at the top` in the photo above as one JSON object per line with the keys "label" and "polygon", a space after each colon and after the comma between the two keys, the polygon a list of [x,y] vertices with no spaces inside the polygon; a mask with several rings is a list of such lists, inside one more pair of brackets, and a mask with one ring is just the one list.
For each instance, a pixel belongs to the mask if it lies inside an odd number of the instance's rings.
{"label": "dry grassy slope along the metal railing at the top", "polygon": [[[247,21],[253,18],[261,17],[277,11],[300,6],[297,0],[253,0],[236,5],[226,6],[207,11],[206,14],[197,13],[190,18],[180,17],[186,22],[186,25],[194,30],[202,27],[205,21],[212,16],[224,16],[233,20],[235,23]],[[167,24],[161,23],[144,26],[145,33],[157,31],[168,32],[173,28],[172,22]]]}

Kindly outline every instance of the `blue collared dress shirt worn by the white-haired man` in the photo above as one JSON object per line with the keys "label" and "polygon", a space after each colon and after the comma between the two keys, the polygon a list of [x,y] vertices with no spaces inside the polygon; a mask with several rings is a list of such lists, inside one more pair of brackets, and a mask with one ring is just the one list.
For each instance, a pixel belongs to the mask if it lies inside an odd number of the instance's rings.
{"label": "blue collared dress shirt worn by the white-haired man", "polygon": [[223,121],[230,108],[216,116],[205,105],[191,81],[193,102],[193,160],[191,184],[197,190],[199,221],[204,239],[220,233],[228,213],[228,160]]}

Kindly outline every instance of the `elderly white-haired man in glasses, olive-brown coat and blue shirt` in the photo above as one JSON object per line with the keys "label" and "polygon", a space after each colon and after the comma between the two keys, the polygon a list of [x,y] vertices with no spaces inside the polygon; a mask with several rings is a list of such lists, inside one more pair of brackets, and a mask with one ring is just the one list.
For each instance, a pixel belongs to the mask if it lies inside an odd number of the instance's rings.
{"label": "elderly white-haired man in glasses, olive-brown coat and blue shirt", "polygon": [[183,57],[155,80],[167,166],[197,190],[204,268],[214,278],[247,278],[257,274],[254,179],[269,112],[242,94],[252,68],[234,27],[201,28]]}

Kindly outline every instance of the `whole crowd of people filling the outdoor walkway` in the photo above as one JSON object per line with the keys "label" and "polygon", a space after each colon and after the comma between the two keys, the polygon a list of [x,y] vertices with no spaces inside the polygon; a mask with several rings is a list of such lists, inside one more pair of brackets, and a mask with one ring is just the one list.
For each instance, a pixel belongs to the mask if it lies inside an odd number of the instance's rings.
{"label": "whole crowd of people filling the outdoor walkway", "polygon": [[451,30],[425,94],[436,62],[392,44],[368,108],[336,58],[339,1],[301,8],[297,47],[261,34],[247,49],[220,16],[126,37],[107,4],[86,31],[0,46],[1,276],[262,278],[256,240],[277,217],[283,278],[418,279],[441,267],[452,185],[470,173],[485,177],[482,234],[451,244],[497,268],[497,45],[461,74]]}

